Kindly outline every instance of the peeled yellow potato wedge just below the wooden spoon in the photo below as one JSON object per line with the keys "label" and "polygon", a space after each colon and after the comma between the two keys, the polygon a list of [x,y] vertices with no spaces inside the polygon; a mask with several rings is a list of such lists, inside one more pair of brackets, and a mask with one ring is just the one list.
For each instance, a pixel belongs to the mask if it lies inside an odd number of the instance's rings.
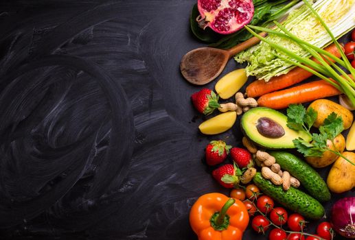
{"label": "peeled yellow potato wedge just below the wooden spoon", "polygon": [[229,99],[235,95],[240,88],[247,82],[247,73],[244,69],[237,69],[224,75],[214,87],[220,98]]}

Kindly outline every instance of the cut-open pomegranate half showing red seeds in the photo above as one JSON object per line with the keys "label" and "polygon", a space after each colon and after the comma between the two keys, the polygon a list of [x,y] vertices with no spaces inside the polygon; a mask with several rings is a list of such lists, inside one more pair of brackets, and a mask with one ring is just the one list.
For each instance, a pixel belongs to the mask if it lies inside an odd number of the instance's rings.
{"label": "cut-open pomegranate half showing red seeds", "polygon": [[218,34],[231,34],[250,23],[254,15],[252,0],[198,0],[198,25]]}

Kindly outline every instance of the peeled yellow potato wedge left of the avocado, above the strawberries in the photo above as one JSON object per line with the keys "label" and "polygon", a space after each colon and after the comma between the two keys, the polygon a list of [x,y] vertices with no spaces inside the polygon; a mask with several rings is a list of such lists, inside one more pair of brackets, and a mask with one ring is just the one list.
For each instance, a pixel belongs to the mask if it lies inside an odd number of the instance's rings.
{"label": "peeled yellow potato wedge left of the avocado, above the strawberries", "polygon": [[237,112],[229,111],[201,123],[198,128],[203,134],[219,134],[229,130],[236,122]]}

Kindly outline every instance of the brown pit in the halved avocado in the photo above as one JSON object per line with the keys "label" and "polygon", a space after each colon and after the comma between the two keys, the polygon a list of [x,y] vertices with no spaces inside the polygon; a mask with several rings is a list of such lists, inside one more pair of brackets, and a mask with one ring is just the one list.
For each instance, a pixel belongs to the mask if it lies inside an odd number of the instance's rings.
{"label": "brown pit in the halved avocado", "polygon": [[257,119],[256,129],[262,136],[269,139],[278,139],[285,134],[282,125],[279,125],[279,123],[268,117],[260,117],[260,119]]}

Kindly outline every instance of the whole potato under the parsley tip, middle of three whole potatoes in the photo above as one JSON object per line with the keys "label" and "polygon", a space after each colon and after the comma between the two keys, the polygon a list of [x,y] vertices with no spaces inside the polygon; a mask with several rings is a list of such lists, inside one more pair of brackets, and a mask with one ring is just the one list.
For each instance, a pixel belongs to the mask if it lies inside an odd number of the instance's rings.
{"label": "whole potato under the parsley tip, middle of three whole potatoes", "polygon": [[[335,145],[335,147],[334,147]],[[345,138],[342,134],[339,134],[338,136],[335,137],[334,139],[334,145],[332,141],[328,139],[327,141],[327,147],[335,151],[335,149],[338,149],[339,152],[343,152],[345,149]],[[306,157],[307,162],[312,165],[312,167],[326,167],[328,165],[331,165],[334,163],[334,161],[338,158],[338,155],[330,152],[330,151],[325,151],[323,152],[323,156],[321,157],[314,157],[314,156],[308,156]]]}

